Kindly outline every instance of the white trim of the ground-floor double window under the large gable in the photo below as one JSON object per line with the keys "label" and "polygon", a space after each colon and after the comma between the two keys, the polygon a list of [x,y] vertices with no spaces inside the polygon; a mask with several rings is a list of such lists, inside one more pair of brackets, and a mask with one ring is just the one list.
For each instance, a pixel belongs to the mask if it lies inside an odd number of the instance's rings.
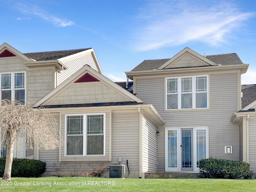
{"label": "white trim of the ground-floor double window under the large gable", "polygon": [[[103,154],[95,154],[95,155],[86,155],[86,149],[87,149],[87,131],[85,130],[87,128],[87,115],[103,115]],[[67,116],[83,116],[83,154],[82,155],[67,155]],[[106,154],[106,113],[83,113],[83,114],[65,114],[65,145],[64,145],[64,157],[100,157],[105,156]]]}

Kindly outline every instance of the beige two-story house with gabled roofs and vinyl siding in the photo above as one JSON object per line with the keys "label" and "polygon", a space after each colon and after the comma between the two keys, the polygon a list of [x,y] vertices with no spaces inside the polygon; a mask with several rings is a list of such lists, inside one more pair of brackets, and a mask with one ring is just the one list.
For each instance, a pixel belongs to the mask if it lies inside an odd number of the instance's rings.
{"label": "beige two-story house with gabled roofs and vinyl siding", "polygon": [[124,164],[132,178],[198,172],[198,160],[208,157],[247,161],[256,170],[250,133],[256,104],[241,108],[247,68],[237,54],[202,56],[185,48],[126,72],[133,83],[114,83],[92,48],[22,54],[4,43],[0,96],[43,106],[56,118],[60,148],[16,144],[16,157],[46,162],[47,175],[56,165],[70,175],[94,162]]}

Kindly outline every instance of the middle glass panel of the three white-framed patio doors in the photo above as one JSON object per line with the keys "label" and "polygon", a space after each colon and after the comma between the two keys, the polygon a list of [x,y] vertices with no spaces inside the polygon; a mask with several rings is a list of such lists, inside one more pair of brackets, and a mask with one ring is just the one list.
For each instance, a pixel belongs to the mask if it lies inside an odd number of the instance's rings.
{"label": "middle glass panel of the three white-framed patio doors", "polygon": [[181,129],[181,170],[193,171],[193,128]]}

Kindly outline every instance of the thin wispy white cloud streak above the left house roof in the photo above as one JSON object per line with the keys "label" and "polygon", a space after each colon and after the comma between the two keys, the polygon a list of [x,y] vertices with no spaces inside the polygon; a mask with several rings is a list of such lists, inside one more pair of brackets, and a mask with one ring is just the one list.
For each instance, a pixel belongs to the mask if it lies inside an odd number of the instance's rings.
{"label": "thin wispy white cloud streak above the left house roof", "polygon": [[58,18],[34,5],[32,6],[32,5],[26,5],[26,4],[18,4],[16,9],[22,12],[23,14],[37,16],[43,20],[53,23],[56,26],[66,27],[66,26],[74,25],[74,22],[67,19]]}

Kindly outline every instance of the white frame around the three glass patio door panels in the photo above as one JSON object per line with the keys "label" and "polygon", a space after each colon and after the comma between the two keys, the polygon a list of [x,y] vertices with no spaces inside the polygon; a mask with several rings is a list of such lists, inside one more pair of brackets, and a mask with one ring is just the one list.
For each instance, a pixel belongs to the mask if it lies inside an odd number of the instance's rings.
{"label": "white frame around the three glass patio door panels", "polygon": [[[197,168],[197,159],[196,159],[196,130],[206,130],[206,158],[209,158],[209,127],[208,126],[200,126],[200,127],[166,127],[165,128],[165,172],[182,172],[181,171],[181,129],[182,128],[193,128],[193,172],[199,172],[199,168]],[[168,130],[176,130],[177,131],[177,167],[170,168],[168,167]]]}

